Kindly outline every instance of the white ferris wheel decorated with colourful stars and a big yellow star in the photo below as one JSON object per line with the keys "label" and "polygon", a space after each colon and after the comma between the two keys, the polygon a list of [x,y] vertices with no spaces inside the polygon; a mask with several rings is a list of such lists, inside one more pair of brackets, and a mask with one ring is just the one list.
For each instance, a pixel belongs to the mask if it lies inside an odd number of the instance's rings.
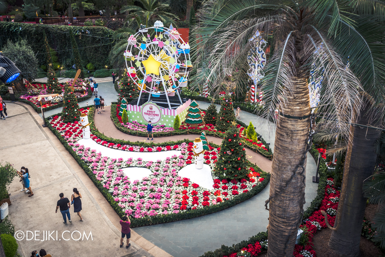
{"label": "white ferris wheel decorated with colourful stars and a big yellow star", "polygon": [[[151,30],[155,30],[154,36],[150,36]],[[182,104],[177,89],[187,86],[192,65],[190,46],[183,41],[179,32],[172,25],[167,29],[162,22],[156,21],[154,27],[141,25],[139,31],[127,41],[124,57],[127,74],[140,90],[137,105],[143,92],[149,93],[148,101],[165,95],[169,109],[179,106],[171,107],[169,96],[176,94]],[[140,74],[143,79],[139,79]]]}

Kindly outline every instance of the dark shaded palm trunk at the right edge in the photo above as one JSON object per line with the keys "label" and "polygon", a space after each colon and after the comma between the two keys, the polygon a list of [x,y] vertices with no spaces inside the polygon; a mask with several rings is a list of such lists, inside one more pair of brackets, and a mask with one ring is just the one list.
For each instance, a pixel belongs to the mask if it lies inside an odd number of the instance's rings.
{"label": "dark shaded palm trunk at the right edge", "polygon": [[[366,97],[366,95],[365,95]],[[370,96],[369,96],[370,97]],[[366,97],[360,110],[357,123],[377,127],[381,124],[381,115],[368,115],[372,103]],[[329,246],[336,254],[343,257],[358,257],[360,254],[360,239],[362,221],[365,214],[366,199],[363,197],[363,181],[372,175],[377,155],[374,142],[380,137],[381,131],[350,127],[353,140],[348,144],[345,167],[338,205],[335,230],[331,232]]]}

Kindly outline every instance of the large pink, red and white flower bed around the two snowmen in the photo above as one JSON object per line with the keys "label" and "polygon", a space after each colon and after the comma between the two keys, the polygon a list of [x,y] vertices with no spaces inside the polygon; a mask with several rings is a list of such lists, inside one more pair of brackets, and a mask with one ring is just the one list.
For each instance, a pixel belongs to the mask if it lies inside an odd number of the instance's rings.
{"label": "large pink, red and white flower bed around the two snowmen", "polygon": [[[89,108],[79,109],[88,113]],[[91,112],[90,115],[92,115]],[[91,117],[89,117],[89,120]],[[203,209],[207,206],[216,206],[231,201],[241,194],[247,194],[256,186],[263,183],[264,178],[260,172],[249,167],[250,174],[246,179],[220,181],[214,178],[214,189],[207,190],[188,178],[178,176],[178,171],[191,164],[193,156],[193,143],[170,144],[167,146],[140,147],[137,145],[121,145],[100,139],[91,135],[92,140],[98,144],[129,152],[160,152],[179,150],[179,156],[173,155],[165,160],[144,161],[141,158],[113,159],[102,156],[100,152],[84,145],[78,144],[82,138],[79,122],[63,123],[60,116],[49,118],[49,123],[66,140],[72,150],[81,156],[96,179],[103,184],[103,188],[112,189],[113,200],[126,214],[135,218],[145,218],[157,215],[177,214],[187,212],[189,209]],[[213,170],[220,148],[210,147],[204,154],[204,162]],[[123,168],[142,167],[151,171],[149,176],[132,181],[124,174]],[[266,176],[265,178],[268,178]],[[255,190],[254,190],[255,191]]]}

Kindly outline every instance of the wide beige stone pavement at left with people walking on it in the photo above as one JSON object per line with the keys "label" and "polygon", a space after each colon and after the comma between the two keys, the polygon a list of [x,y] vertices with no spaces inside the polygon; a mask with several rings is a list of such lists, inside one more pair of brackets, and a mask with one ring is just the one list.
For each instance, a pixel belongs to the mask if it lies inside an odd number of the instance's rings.
{"label": "wide beige stone pavement at left with people walking on it", "polygon": [[[87,174],[70,156],[49,128],[42,128],[39,115],[25,103],[7,102],[8,118],[1,120],[0,155],[2,161],[14,164],[20,170],[25,166],[29,169],[30,185],[34,195],[20,192],[22,188],[19,178],[10,185],[11,202],[9,216],[15,225],[15,231],[27,230],[40,234],[37,240],[18,241],[22,256],[30,256],[32,250],[45,249],[55,257],[68,256],[69,252],[77,256],[115,256],[115,257],[171,257],[136,232],[131,233],[131,247],[119,248],[120,225],[119,216],[107,203],[104,196],[89,179]],[[72,188],[76,187],[82,194],[82,216],[79,217],[70,208],[72,223],[63,224],[61,213],[55,213],[59,193],[70,198]],[[64,231],[70,233],[83,231],[92,240],[69,240],[65,233],[63,240],[43,240],[43,231],[58,231],[58,239]],[[56,239],[56,232],[54,238]],[[31,237],[31,235],[29,235]],[[79,233],[73,237],[77,239]],[[126,242],[126,241],[125,241]],[[126,244],[124,244],[125,246]],[[71,255],[71,254],[70,254]]]}

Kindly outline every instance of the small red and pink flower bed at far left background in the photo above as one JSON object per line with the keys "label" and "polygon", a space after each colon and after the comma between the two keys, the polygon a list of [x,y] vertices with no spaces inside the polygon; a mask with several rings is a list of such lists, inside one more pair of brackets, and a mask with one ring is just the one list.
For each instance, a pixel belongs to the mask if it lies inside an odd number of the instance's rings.
{"label": "small red and pink flower bed at far left background", "polygon": [[[73,81],[74,81],[73,79],[70,79],[69,80],[69,84],[72,84]],[[85,80],[84,79],[78,79],[75,82],[75,85],[74,85],[75,96],[77,98],[84,97],[84,96],[88,95],[88,88],[85,90],[85,92],[86,92],[85,94],[82,93],[83,92],[82,82],[85,82]],[[65,85],[64,84],[60,84],[60,85],[62,86],[62,92],[64,92],[64,86]],[[36,97],[38,95],[48,95],[48,94],[50,94],[49,92],[47,92],[47,85],[46,84],[32,84],[32,86],[39,91],[39,94],[36,93],[35,91],[32,91],[31,89],[29,89],[27,94],[20,95],[19,97],[24,99],[24,100],[30,101],[36,107],[40,107],[40,101],[37,101],[37,98],[33,98],[33,97]],[[44,108],[47,108],[47,107],[50,107],[50,106],[53,106],[53,105],[58,105],[58,104],[59,104],[59,102],[58,103],[48,103],[44,99],[42,99],[43,110],[44,110]]]}

